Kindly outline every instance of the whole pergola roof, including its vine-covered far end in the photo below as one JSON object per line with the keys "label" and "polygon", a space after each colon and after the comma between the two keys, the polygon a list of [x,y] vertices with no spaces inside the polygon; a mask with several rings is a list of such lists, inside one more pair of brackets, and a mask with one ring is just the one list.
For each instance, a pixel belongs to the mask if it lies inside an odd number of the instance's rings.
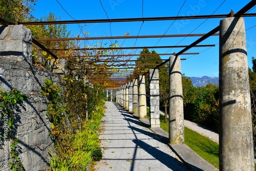
{"label": "whole pergola roof, including its vine-covered far end", "polygon": [[[15,24],[21,24],[21,25],[60,25],[60,24],[81,24],[81,23],[117,23],[117,22],[147,22],[147,21],[157,21],[157,20],[184,20],[184,19],[200,19],[200,18],[224,18],[224,17],[232,17],[232,16],[243,16],[243,17],[251,17],[256,16],[256,13],[246,13],[249,11],[252,7],[256,5],[256,1],[249,2],[246,6],[242,7],[240,11],[237,13],[234,13],[231,11],[228,14],[218,14],[218,15],[195,15],[195,16],[169,16],[169,17],[143,17],[143,18],[112,18],[112,19],[87,19],[87,20],[63,20],[63,21],[53,21],[53,22],[16,22]],[[15,25],[14,23],[8,23],[5,20],[0,18],[0,24],[2,25]],[[103,40],[103,39],[138,39],[138,38],[166,38],[166,37],[199,37],[194,42],[192,42],[189,45],[169,45],[169,46],[134,46],[134,47],[84,47],[84,48],[75,48],[72,49],[72,51],[78,51],[79,55],[75,56],[69,56],[70,58],[83,58],[86,59],[83,61],[88,62],[87,65],[100,65],[104,66],[104,72],[102,72],[102,75],[100,72],[94,71],[90,74],[88,77],[92,82],[103,82],[103,81],[112,81],[112,84],[114,87],[118,87],[121,84],[126,83],[127,81],[130,81],[131,78],[136,78],[138,75],[133,75],[133,70],[135,66],[132,62],[135,62],[137,60],[131,59],[132,56],[146,56],[146,55],[154,55],[154,54],[138,54],[138,53],[125,53],[122,51],[122,53],[118,54],[86,54],[81,55],[82,53],[79,52],[87,52],[87,51],[100,51],[100,50],[127,50],[127,49],[157,49],[157,48],[182,48],[182,50],[178,51],[177,53],[161,53],[156,55],[196,55],[199,54],[197,52],[198,48],[201,47],[214,47],[215,45],[199,45],[200,42],[205,40],[206,38],[210,36],[219,36],[217,33],[219,31],[219,26],[214,27],[212,30],[210,30],[208,33],[200,33],[200,34],[172,34],[172,35],[137,35],[137,36],[101,36],[101,37],[68,37],[68,38],[40,38],[40,39],[34,39],[32,42],[38,47],[39,51],[45,51],[49,55],[51,55],[53,58],[63,58],[65,56],[57,56],[55,52],[57,51],[69,51],[70,49],[47,49],[40,42],[42,41],[70,41],[70,40]],[[195,52],[187,52],[188,50],[193,49]],[[91,60],[93,57],[97,57],[97,60]],[[121,58],[121,59],[120,59]],[[91,61],[90,61],[91,60]],[[185,58],[183,58],[185,60]],[[146,61],[146,60],[144,60]],[[147,60],[150,61],[150,60]],[[157,60],[154,65],[156,67],[154,69],[160,69],[160,67],[165,67],[166,63],[168,62],[168,59],[163,59],[163,62],[159,63]],[[139,61],[137,61],[139,62]],[[153,65],[150,64],[150,65]],[[146,64],[143,64],[146,65]],[[77,65],[76,65],[77,67]],[[79,67],[79,66],[78,66]],[[119,70],[117,73],[113,73],[113,69]],[[111,72],[111,76],[108,75],[108,73]],[[94,75],[94,73],[97,73],[97,75]],[[141,75],[147,74],[147,71],[141,72]],[[129,79],[125,79],[128,77]]]}

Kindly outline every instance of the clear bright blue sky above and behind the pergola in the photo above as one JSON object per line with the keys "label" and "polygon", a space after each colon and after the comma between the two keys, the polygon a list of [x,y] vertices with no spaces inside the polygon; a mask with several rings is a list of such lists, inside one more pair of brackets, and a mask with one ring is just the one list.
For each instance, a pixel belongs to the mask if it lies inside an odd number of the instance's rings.
{"label": "clear bright blue sky above and behind the pergola", "polygon": [[[59,3],[58,3],[58,2]],[[196,1],[128,1],[128,0],[99,0],[94,1],[67,1],[67,0],[38,0],[32,15],[36,18],[44,17],[50,12],[56,16],[60,16],[61,20],[74,19],[114,19],[114,18],[138,18],[138,17],[166,17],[166,16],[187,16],[187,15],[211,15],[227,14],[231,11],[238,12],[250,1],[226,0],[196,0]],[[143,5],[142,5],[143,2]],[[224,3],[223,3],[224,2]],[[183,5],[184,3],[184,5]],[[223,4],[222,4],[223,3]],[[71,15],[71,18],[61,6]],[[221,5],[222,4],[222,5]],[[183,7],[182,7],[183,6]],[[220,7],[219,7],[220,6]],[[182,7],[182,8],[181,8]],[[218,8],[219,7],[219,8]],[[217,10],[218,9],[218,10]],[[106,13],[105,13],[105,11]],[[256,8],[249,13],[256,13]],[[122,22],[122,23],[98,23],[98,24],[69,24],[68,30],[71,30],[71,37],[77,36],[82,27],[83,32],[90,33],[90,37],[94,36],[124,36],[129,35],[163,35],[165,34],[188,34],[207,33],[219,25],[222,18],[216,19],[190,19],[190,20],[167,20],[154,22]],[[174,23],[173,23],[174,22]],[[248,66],[251,68],[251,57],[256,57],[256,17],[245,17],[246,41]],[[79,28],[80,27],[80,28]],[[253,28],[251,28],[253,27]],[[140,29],[141,28],[141,29]],[[250,29],[251,28],[251,29]],[[122,47],[134,46],[174,46],[189,45],[199,37],[178,37],[178,38],[146,38],[142,39],[118,39],[117,43]],[[183,40],[182,40],[183,39]],[[182,40],[182,41],[181,41]],[[94,40],[91,44],[107,45],[111,44],[110,40]],[[113,40],[114,42],[115,40]],[[212,48],[192,48],[187,52],[199,52],[199,55],[181,55],[186,58],[181,62],[181,70],[186,76],[209,77],[219,76],[219,36],[212,36],[201,42],[199,45],[215,44]],[[154,49],[157,53],[174,53],[179,52],[183,48],[173,49]],[[150,49],[152,51],[153,49]],[[125,53],[139,54],[141,50],[127,50]],[[134,57],[136,59],[137,57]],[[168,56],[161,56],[167,59]]]}

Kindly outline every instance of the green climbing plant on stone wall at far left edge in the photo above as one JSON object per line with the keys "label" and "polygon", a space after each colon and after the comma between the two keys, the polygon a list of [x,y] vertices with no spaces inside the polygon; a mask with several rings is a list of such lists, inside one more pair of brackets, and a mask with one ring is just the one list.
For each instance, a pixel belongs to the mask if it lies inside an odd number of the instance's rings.
{"label": "green climbing plant on stone wall at far left edge", "polygon": [[4,138],[10,138],[10,154],[12,161],[10,162],[10,169],[24,170],[23,163],[18,158],[18,139],[16,138],[17,120],[19,118],[15,110],[18,110],[17,105],[21,105],[22,101],[26,99],[25,94],[13,89],[10,93],[0,90],[0,114],[4,127],[8,127],[8,134],[4,134]]}

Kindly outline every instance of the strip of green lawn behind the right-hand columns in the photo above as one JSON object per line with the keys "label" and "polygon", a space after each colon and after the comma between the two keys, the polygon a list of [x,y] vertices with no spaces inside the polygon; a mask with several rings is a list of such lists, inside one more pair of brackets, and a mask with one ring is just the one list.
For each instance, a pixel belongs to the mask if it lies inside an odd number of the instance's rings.
{"label": "strip of green lawn behind the right-hand columns", "polygon": [[[148,109],[147,118],[149,117]],[[164,123],[163,115],[160,115],[160,126],[165,132],[169,132],[169,125],[168,123]],[[184,134],[185,144],[204,160],[219,169],[219,144],[187,127],[184,127]]]}

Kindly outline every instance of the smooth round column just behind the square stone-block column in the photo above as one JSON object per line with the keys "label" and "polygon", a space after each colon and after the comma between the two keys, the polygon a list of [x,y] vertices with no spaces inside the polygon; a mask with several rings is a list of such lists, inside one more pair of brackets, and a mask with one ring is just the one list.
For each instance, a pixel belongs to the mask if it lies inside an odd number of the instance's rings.
{"label": "smooth round column just behind the square stone-block column", "polygon": [[139,76],[139,118],[146,118],[146,86],[145,76]]}

